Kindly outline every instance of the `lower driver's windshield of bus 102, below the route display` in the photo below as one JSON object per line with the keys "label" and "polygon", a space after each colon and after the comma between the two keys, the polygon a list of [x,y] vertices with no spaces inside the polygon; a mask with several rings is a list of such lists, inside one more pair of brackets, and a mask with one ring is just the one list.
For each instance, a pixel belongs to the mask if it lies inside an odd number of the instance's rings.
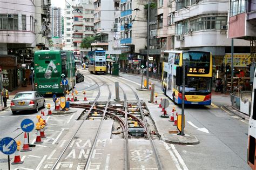
{"label": "lower driver's windshield of bus 102, below the route display", "polygon": [[[182,92],[182,86],[180,86],[179,91]],[[211,92],[211,78],[187,77],[185,92]]]}

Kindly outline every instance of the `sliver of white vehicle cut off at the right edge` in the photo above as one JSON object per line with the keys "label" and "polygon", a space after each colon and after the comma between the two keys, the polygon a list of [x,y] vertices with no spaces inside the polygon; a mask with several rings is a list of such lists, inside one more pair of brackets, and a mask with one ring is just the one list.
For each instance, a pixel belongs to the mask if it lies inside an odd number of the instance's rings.
{"label": "sliver of white vehicle cut off at the right edge", "polygon": [[251,117],[249,120],[249,132],[248,132],[248,165],[252,169],[256,169],[256,72],[254,73],[253,80],[253,92],[252,92],[252,106],[251,106]]}

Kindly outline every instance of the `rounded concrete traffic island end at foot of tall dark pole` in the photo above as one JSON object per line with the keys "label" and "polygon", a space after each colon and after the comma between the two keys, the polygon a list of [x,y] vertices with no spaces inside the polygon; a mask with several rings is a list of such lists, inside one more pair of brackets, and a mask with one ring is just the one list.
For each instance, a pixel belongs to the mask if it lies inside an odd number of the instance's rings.
{"label": "rounded concrete traffic island end at foot of tall dark pole", "polygon": [[169,144],[179,145],[197,145],[199,140],[194,135],[185,134],[184,136],[178,134],[164,133],[161,135],[161,140]]}

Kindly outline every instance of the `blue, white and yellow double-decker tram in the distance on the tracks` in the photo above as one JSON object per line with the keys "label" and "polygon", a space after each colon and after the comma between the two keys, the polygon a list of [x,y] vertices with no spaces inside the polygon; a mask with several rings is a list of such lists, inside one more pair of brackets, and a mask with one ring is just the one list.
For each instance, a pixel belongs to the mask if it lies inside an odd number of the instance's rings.
{"label": "blue, white and yellow double-decker tram in the distance on the tracks", "polygon": [[106,73],[106,51],[98,48],[95,51],[89,51],[89,72]]}

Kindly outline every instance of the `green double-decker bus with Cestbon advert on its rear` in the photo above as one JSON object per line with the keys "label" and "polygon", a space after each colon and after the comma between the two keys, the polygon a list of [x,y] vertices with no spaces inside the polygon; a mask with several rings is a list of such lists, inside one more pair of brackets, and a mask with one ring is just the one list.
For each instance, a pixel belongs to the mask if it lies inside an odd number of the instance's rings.
{"label": "green double-decker bus with Cestbon advert on its rear", "polygon": [[71,90],[75,86],[76,66],[72,51],[36,51],[34,63],[35,90],[41,94],[63,94],[63,74],[69,81],[67,89]]}

